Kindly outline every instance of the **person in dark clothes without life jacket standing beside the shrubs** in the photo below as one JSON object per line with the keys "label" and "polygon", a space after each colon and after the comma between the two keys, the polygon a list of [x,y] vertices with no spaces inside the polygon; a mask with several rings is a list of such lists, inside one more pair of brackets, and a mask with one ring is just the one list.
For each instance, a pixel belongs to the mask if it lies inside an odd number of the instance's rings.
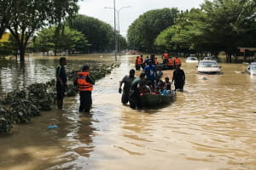
{"label": "person in dark clothes without life jacket standing beside the shrubs", "polygon": [[61,57],[60,64],[56,68],[56,92],[57,92],[57,106],[62,109],[65,91],[67,89],[67,75],[64,65],[67,65],[67,59]]}

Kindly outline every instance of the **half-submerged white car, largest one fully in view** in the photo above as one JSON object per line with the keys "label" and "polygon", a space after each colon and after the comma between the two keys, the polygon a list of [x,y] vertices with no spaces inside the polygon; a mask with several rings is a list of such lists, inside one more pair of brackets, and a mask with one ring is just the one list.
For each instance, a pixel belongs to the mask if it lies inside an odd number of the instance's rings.
{"label": "half-submerged white car, largest one fully in view", "polygon": [[221,66],[215,60],[201,60],[196,66],[197,73],[218,74]]}

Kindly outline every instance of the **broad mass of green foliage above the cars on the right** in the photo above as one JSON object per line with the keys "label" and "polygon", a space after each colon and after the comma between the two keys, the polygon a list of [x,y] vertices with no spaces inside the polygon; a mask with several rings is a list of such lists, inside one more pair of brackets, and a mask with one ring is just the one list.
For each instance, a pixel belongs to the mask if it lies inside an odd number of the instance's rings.
{"label": "broad mass of green foliage above the cars on the right", "polygon": [[160,50],[236,54],[238,47],[253,47],[256,35],[253,0],[206,1],[201,9],[178,14],[175,25],[162,31],[154,44]]}

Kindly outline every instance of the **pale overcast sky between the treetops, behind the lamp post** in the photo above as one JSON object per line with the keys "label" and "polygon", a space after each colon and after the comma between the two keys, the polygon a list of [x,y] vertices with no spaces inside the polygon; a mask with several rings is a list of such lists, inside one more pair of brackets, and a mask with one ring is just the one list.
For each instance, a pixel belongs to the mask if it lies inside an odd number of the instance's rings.
{"label": "pale overcast sky between the treetops, behind the lamp post", "polygon": [[[204,0],[115,0],[115,8],[117,10],[121,8],[119,10],[120,34],[125,36],[131,23],[148,10],[155,8],[185,10],[199,8],[201,3],[204,3]],[[122,8],[128,6],[130,8]],[[113,26],[113,0],[83,0],[79,2],[79,7],[79,14],[92,16]],[[117,17],[116,15],[116,20]]]}

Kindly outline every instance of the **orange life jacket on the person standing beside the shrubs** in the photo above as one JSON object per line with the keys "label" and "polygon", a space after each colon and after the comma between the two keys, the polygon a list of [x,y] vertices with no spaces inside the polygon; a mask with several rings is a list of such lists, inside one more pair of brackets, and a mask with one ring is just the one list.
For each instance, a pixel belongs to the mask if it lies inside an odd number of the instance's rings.
{"label": "orange life jacket on the person standing beside the shrubs", "polygon": [[90,75],[89,72],[78,72],[77,86],[79,91],[92,91],[92,84],[90,82],[86,82],[86,77],[88,75]]}

